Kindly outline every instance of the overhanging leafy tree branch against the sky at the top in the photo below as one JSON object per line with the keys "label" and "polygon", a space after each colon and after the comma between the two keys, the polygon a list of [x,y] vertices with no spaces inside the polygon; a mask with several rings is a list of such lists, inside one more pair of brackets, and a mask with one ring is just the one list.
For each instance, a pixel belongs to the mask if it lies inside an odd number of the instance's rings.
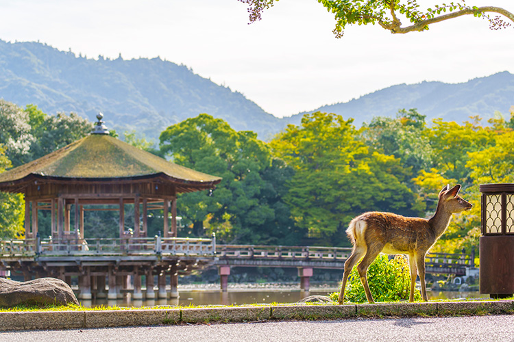
{"label": "overhanging leafy tree branch against the sky at the top", "polygon": [[[238,0],[248,5],[250,22],[258,21],[263,10],[273,6],[278,0]],[[412,31],[425,31],[430,25],[459,16],[473,15],[484,17],[491,29],[511,26],[514,14],[494,6],[469,6],[464,0],[450,3],[432,3],[431,8],[421,8],[417,0],[318,0],[328,12],[334,14],[336,25],[334,34],[343,36],[346,25],[378,24],[393,34],[406,34]],[[447,13],[448,12],[448,13]],[[490,14],[500,14],[491,17]],[[506,18],[507,21],[504,20]],[[402,20],[410,22],[402,27]]]}

